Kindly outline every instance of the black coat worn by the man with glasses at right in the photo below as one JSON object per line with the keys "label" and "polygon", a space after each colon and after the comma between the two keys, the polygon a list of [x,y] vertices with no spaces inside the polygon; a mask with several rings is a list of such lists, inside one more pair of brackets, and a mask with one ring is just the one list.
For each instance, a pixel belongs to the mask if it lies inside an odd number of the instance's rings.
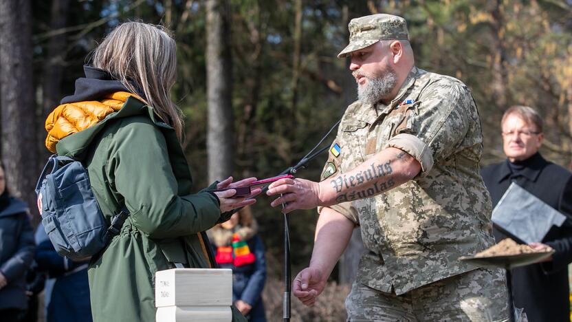
{"label": "black coat worn by the man with glasses at right", "polygon": [[[514,268],[512,292],[514,305],[524,308],[530,322],[569,321],[568,264],[572,261],[572,174],[566,169],[547,162],[539,153],[518,162],[524,166],[513,173],[509,161],[493,164],[481,174],[492,197],[498,201],[511,182],[536,195],[568,219],[561,227],[552,226],[542,243],[554,248],[553,261]],[[506,236],[493,230],[496,241]]]}

